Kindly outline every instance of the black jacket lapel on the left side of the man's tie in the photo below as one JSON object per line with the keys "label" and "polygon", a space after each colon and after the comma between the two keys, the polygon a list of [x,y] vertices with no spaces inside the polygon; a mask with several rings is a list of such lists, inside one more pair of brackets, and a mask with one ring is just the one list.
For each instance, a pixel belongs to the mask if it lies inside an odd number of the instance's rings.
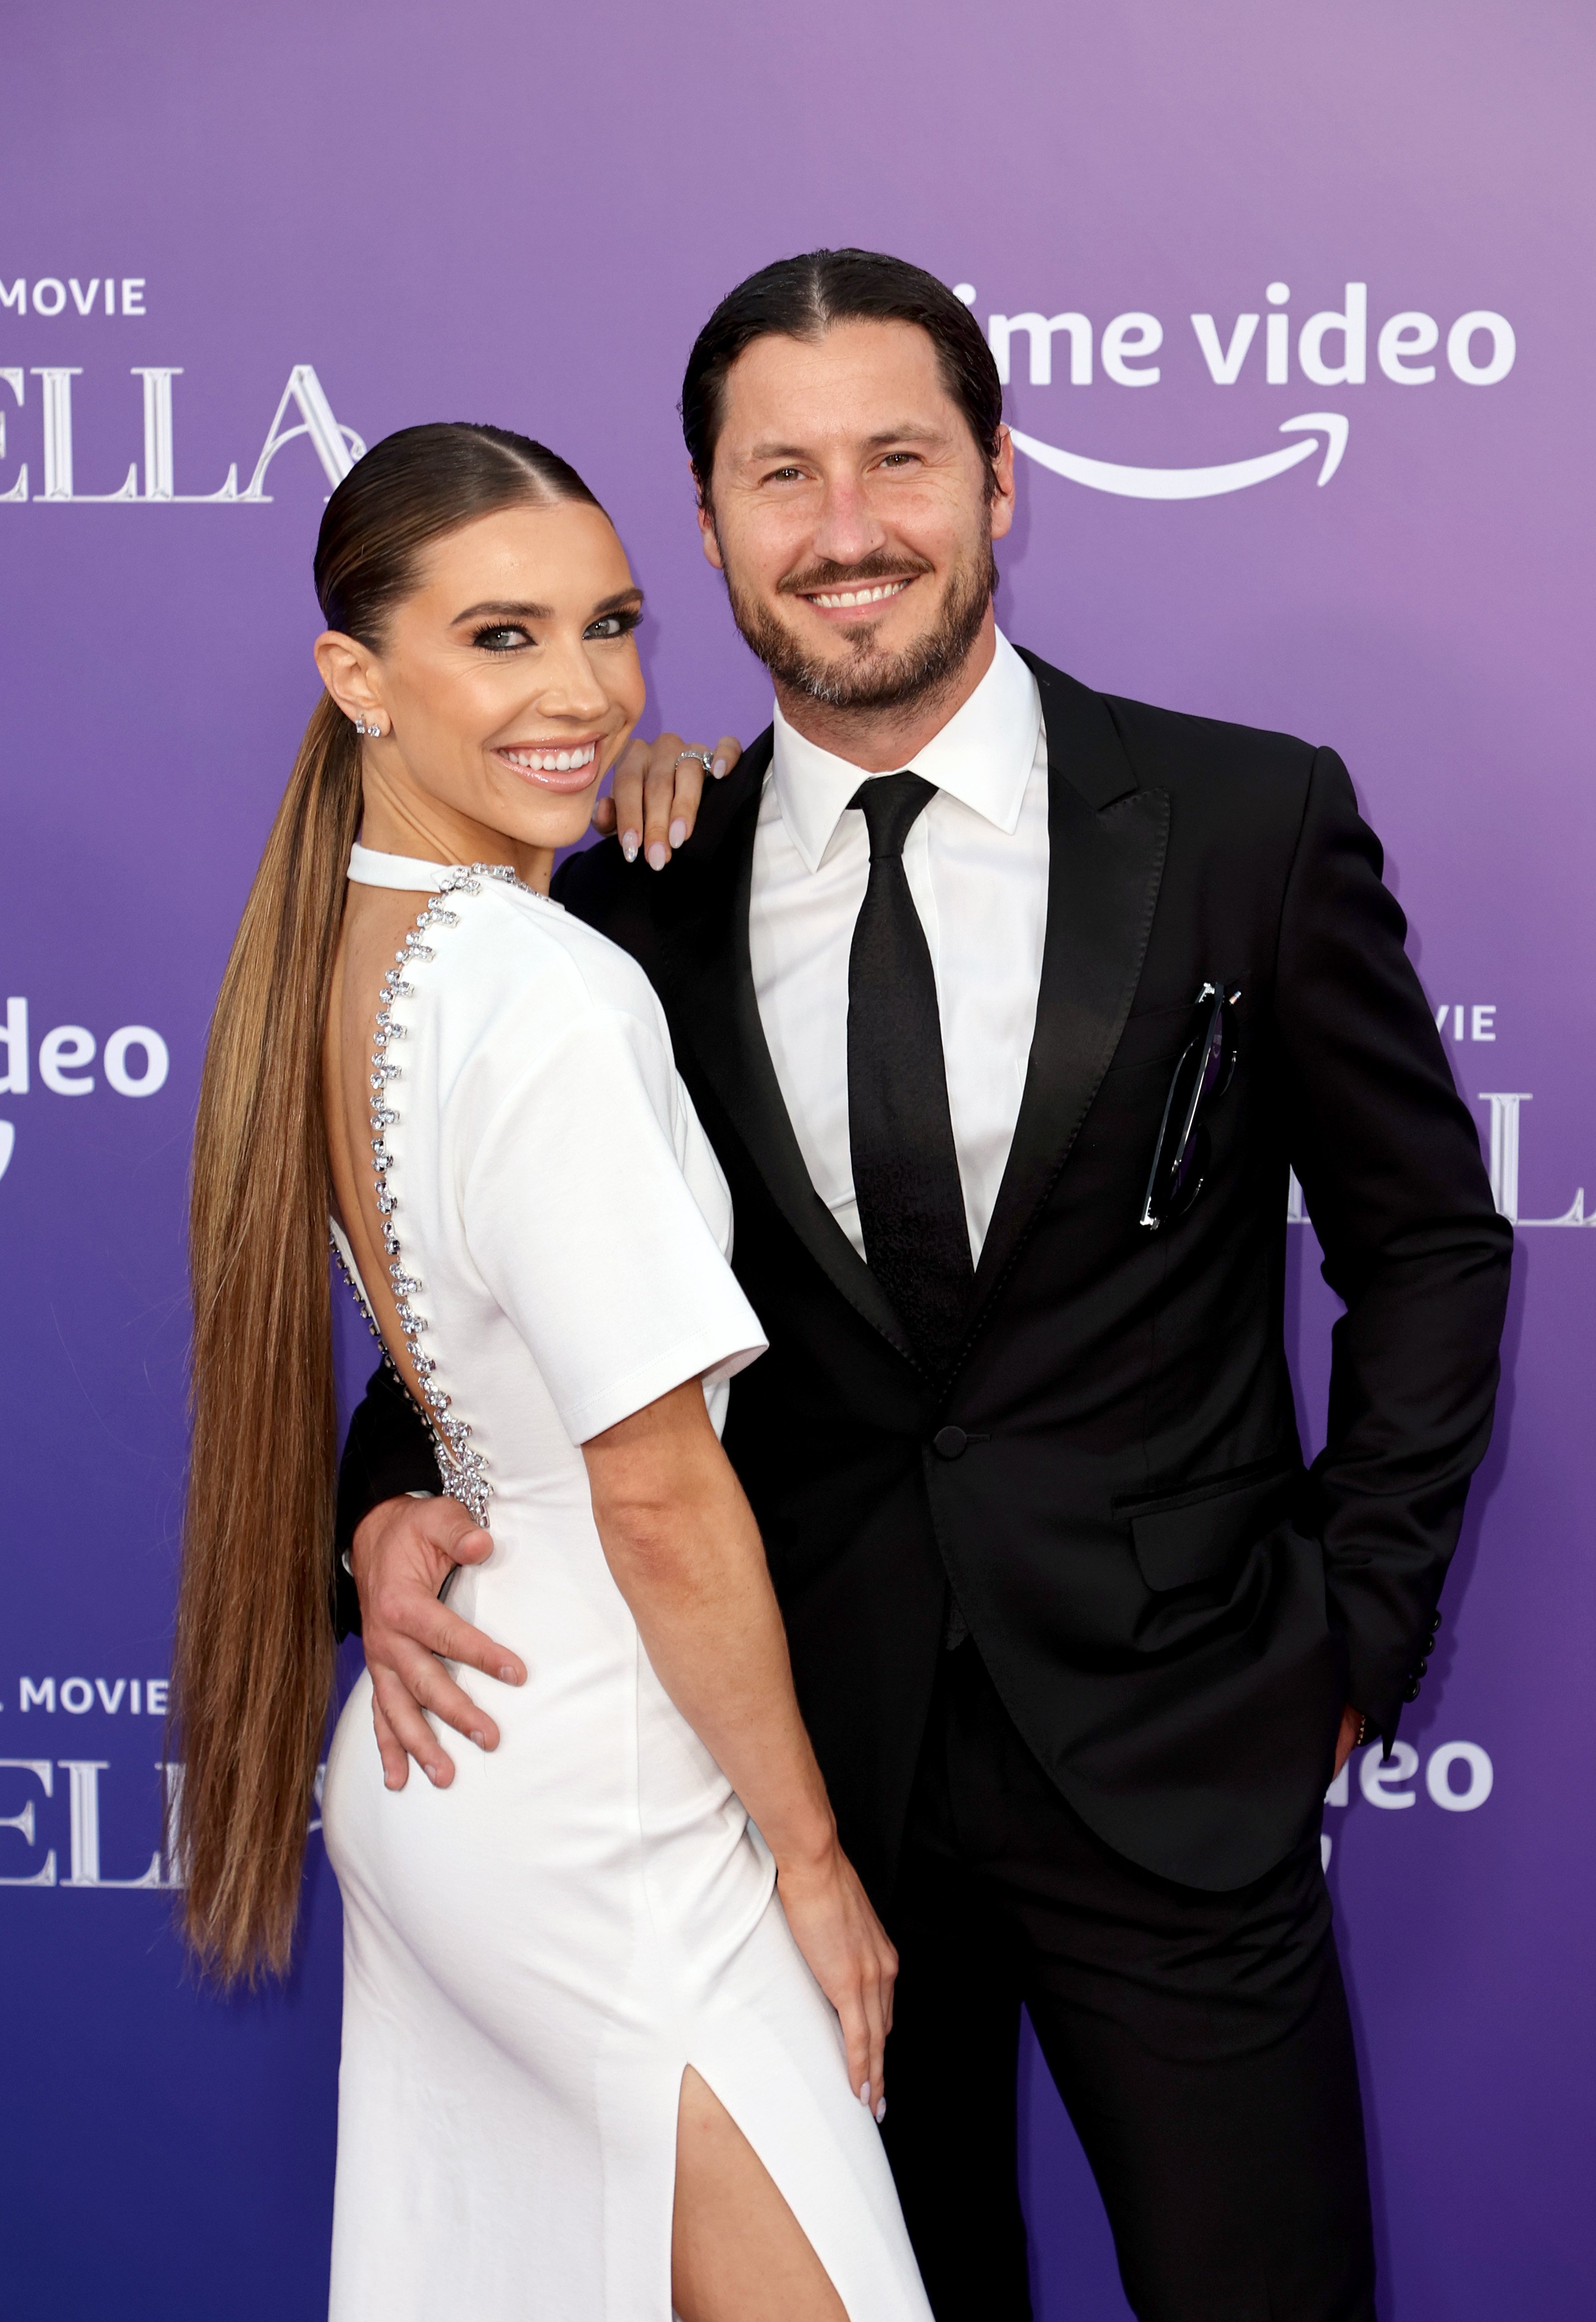
{"label": "black jacket lapel on the left side of the man's tie", "polygon": [[[674,1036],[711,1084],[771,1200],[855,1312],[915,1361],[890,1298],[804,1168],[760,1022],[748,959],[748,894],[760,796],[771,762],[762,734],[720,794],[704,801],[688,850],[664,873],[660,952]],[[695,859],[697,857],[697,859]],[[667,882],[678,882],[676,892]]]}

